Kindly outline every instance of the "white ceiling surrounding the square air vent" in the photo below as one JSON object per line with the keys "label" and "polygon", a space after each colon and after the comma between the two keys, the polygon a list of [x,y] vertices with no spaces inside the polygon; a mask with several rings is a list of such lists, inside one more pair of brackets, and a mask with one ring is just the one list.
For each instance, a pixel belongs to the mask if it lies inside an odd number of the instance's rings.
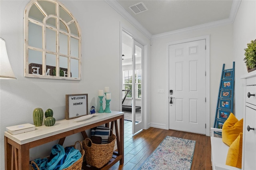
{"label": "white ceiling surrounding the square air vent", "polygon": [[[148,38],[234,21],[240,0],[106,0]],[[129,8],[143,2],[145,12]]]}

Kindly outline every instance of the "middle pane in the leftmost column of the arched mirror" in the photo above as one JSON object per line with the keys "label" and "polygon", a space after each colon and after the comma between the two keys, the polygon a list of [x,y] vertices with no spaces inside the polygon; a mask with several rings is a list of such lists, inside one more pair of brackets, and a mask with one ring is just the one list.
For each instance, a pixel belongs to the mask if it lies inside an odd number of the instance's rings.
{"label": "middle pane in the leftmost column of the arched mirror", "polygon": [[28,22],[28,45],[42,49],[42,26]]}

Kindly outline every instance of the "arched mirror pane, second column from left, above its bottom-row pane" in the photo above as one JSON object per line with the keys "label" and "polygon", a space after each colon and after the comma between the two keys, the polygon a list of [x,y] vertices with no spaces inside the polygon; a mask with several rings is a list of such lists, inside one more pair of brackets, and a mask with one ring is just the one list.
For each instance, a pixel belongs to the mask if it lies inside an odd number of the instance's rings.
{"label": "arched mirror pane, second column from left, above its bottom-row pane", "polygon": [[56,36],[57,33],[54,30],[46,28],[46,50],[56,52]]}

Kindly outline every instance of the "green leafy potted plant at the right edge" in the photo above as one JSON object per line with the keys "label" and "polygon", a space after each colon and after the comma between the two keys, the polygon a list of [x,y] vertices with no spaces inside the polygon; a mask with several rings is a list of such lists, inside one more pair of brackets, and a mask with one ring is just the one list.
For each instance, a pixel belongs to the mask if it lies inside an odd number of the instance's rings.
{"label": "green leafy potted plant at the right edge", "polygon": [[244,51],[244,63],[246,63],[247,71],[251,72],[256,70],[256,40],[252,40],[248,43]]}

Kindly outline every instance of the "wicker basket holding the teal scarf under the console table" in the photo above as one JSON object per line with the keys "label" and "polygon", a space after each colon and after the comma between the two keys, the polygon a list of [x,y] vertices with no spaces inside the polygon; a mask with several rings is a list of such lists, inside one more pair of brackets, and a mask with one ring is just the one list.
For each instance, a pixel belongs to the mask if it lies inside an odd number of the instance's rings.
{"label": "wicker basket holding the teal scarf under the console table", "polygon": [[[80,141],[76,141],[75,144],[72,145],[74,148],[76,148],[76,143],[80,143],[80,152],[81,152],[82,156],[74,164],[72,164],[71,166],[69,166],[68,168],[65,168],[63,170],[81,170],[82,169],[82,163],[83,163],[83,158],[84,158],[84,149],[82,147],[82,142],[80,142]],[[35,170],[34,167],[32,166],[32,164],[35,164],[37,170],[40,170],[40,168],[37,166],[36,162],[31,161],[30,165],[31,165],[32,170]]]}

